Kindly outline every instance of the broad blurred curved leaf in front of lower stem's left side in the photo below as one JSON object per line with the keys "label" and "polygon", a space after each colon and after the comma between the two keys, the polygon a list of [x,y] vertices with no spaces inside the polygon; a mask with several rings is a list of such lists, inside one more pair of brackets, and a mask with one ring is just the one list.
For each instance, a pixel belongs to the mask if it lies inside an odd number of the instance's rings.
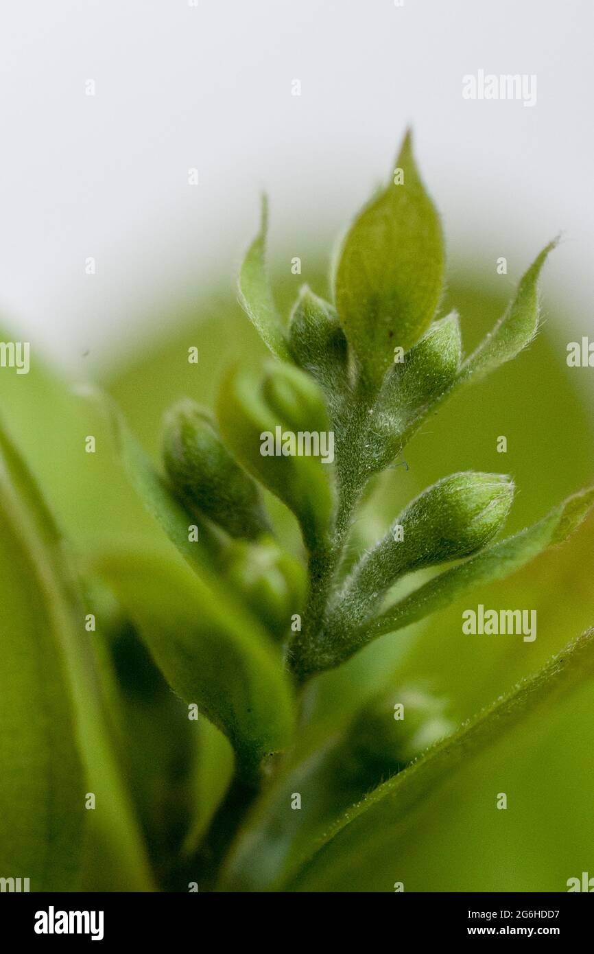
{"label": "broad blurred curved leaf in front of lower stem's left side", "polygon": [[163,554],[96,561],[177,695],[225,733],[246,773],[291,739],[291,686],[272,641],[184,563]]}

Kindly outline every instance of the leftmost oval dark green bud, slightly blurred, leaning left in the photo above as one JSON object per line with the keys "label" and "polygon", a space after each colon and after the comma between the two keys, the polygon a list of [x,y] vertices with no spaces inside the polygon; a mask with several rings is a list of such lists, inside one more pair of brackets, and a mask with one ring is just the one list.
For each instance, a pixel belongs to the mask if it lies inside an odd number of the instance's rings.
{"label": "leftmost oval dark green bud, slightly blurred, leaning left", "polygon": [[252,478],[236,464],[208,411],[185,400],[168,411],[165,469],[176,494],[233,537],[256,539],[268,522]]}

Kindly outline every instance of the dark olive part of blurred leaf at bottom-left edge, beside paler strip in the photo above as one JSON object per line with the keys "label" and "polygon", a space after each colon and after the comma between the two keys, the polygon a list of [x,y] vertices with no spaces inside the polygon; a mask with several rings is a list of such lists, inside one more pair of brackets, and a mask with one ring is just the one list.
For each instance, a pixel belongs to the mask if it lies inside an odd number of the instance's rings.
{"label": "dark olive part of blurred leaf at bottom-left edge, beside paler strip", "polygon": [[85,796],[62,632],[72,620],[31,478],[4,431],[0,443],[0,871],[31,879],[31,891],[67,891]]}

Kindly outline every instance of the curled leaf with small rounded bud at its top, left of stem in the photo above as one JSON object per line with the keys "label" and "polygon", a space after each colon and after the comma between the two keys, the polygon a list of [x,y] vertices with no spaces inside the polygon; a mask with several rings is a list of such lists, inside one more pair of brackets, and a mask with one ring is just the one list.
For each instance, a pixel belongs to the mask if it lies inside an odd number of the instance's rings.
{"label": "curled leaf with small rounded bud at its top, left of stem", "polygon": [[[231,369],[219,393],[217,414],[236,459],[293,510],[307,546],[315,548],[327,535],[332,512],[321,452],[326,451],[329,461],[330,451],[334,456],[334,433],[315,382],[285,364],[272,365],[263,382],[243,369]],[[312,449],[318,456],[311,455]]]}

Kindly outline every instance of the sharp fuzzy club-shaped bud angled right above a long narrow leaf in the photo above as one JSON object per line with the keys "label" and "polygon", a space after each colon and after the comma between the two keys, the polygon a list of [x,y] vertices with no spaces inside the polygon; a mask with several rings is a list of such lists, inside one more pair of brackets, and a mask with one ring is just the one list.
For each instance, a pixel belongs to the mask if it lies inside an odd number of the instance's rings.
{"label": "sharp fuzzy club-shaped bud angled right above a long narrow leaf", "polygon": [[368,618],[405,573],[481,550],[502,527],[513,495],[509,477],[472,471],[423,490],[352,570],[330,613],[329,629],[348,631]]}

